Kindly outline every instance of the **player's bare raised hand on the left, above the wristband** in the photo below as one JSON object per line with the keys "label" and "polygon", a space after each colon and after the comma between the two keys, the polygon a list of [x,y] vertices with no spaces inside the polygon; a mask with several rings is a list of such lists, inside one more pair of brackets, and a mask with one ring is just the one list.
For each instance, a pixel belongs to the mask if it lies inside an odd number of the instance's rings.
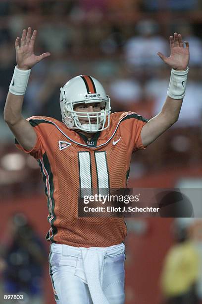
{"label": "player's bare raised hand on the left, above the wristband", "polygon": [[31,27],[28,30],[23,29],[21,41],[17,37],[15,40],[16,63],[17,68],[21,70],[29,70],[42,59],[50,56],[50,53],[44,53],[40,56],[34,54],[34,43],[37,36],[37,30],[32,33]]}

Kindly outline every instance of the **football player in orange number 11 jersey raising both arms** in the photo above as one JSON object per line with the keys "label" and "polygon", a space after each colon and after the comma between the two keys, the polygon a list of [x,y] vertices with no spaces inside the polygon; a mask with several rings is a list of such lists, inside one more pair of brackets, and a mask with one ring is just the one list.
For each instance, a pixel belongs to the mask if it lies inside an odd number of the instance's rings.
{"label": "football player in orange number 11 jersey raising both arms", "polygon": [[170,36],[172,68],[167,98],[147,121],[132,112],[110,113],[110,98],[94,77],[82,75],[60,89],[62,121],[21,115],[31,68],[50,56],[34,54],[37,31],[15,41],[17,65],[9,86],[4,120],[17,148],[35,157],[48,199],[50,277],[60,304],[124,303],[123,218],[79,218],[78,189],[124,188],[133,152],[144,149],[178,120],[188,75],[189,43]]}

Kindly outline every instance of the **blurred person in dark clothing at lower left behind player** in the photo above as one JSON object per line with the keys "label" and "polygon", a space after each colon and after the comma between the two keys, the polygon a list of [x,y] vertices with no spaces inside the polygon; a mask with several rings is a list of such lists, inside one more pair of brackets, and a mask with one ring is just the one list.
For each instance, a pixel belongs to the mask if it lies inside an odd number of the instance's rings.
{"label": "blurred person in dark clothing at lower left behind player", "polygon": [[[13,213],[0,241],[0,297],[4,303],[43,304],[47,244],[23,213]],[[17,301],[18,300],[18,301]],[[2,302],[1,302],[2,303]]]}

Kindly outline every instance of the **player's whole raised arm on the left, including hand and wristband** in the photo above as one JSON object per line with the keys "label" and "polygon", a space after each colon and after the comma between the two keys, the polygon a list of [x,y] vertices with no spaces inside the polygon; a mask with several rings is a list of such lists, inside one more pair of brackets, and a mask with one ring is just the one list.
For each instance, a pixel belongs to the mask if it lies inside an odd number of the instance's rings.
{"label": "player's whole raised arm on the left, including hand and wristband", "polygon": [[[34,30],[32,37],[31,31],[31,27],[28,28],[27,32],[25,29],[23,30],[20,45],[19,37],[15,40],[17,70],[14,72],[3,112],[4,120],[11,132],[20,145],[27,151],[34,148],[37,135],[34,128],[22,117],[24,93],[30,69],[42,59],[50,56],[50,53],[44,53],[40,56],[34,54],[37,31]],[[20,84],[20,89],[17,84]]]}

